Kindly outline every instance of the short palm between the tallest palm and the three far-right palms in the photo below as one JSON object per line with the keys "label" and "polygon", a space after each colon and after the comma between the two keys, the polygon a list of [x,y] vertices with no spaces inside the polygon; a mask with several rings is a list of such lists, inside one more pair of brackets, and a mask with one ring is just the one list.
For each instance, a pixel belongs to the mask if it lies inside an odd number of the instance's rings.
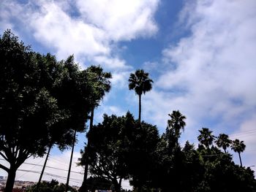
{"label": "short palm between the tallest palm and the three far-right palms", "polygon": [[178,145],[178,138],[181,137],[181,129],[184,131],[186,122],[184,121],[186,117],[181,114],[179,111],[173,111],[172,114],[168,114],[170,120],[167,121],[168,128],[173,132],[176,139],[176,145]]}

